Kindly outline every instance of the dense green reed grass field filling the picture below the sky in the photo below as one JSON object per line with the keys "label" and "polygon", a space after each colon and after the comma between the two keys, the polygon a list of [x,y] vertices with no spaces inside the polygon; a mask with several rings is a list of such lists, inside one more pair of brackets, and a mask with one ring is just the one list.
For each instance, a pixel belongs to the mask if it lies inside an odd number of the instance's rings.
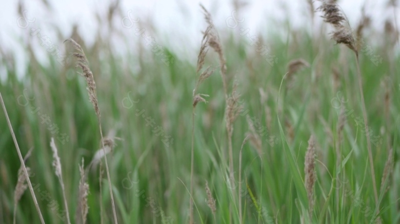
{"label": "dense green reed grass field filling the picture below the sky", "polygon": [[[400,223],[400,58],[390,41],[396,31],[378,34],[383,44],[365,35],[358,50],[376,200],[356,58],[325,35],[327,27],[312,35],[306,30],[290,31],[287,38],[269,35],[258,46],[225,33],[227,95],[212,46],[203,70],[196,71],[196,61],[173,49],[165,49],[174,58],[167,66],[150,49],[122,59],[112,53],[110,40],[97,38],[87,47],[75,34],[96,82],[103,134],[114,142],[107,160],[118,222],[188,223],[192,200],[195,223]],[[65,44],[67,54],[76,52]],[[269,46],[266,55],[257,49],[262,44]],[[33,147],[25,164],[44,220],[64,222],[63,191],[52,166],[54,138],[69,216],[81,223],[79,164],[84,158],[88,167],[102,148],[96,113],[72,57],[61,66],[49,54],[51,63],[43,66],[32,51],[29,55],[22,80],[12,57],[1,57],[8,78],[0,93],[22,156]],[[302,59],[294,61],[299,66],[288,66],[296,59]],[[196,91],[209,95],[203,96],[207,103],[194,107],[196,80],[208,66],[215,71]],[[235,119],[226,119],[227,102]],[[0,127],[0,222],[12,223],[21,162],[3,110]],[[101,181],[98,163],[87,169],[88,223],[101,223],[101,217],[113,222],[104,161],[102,167]],[[16,223],[41,223],[29,189],[17,203]]]}

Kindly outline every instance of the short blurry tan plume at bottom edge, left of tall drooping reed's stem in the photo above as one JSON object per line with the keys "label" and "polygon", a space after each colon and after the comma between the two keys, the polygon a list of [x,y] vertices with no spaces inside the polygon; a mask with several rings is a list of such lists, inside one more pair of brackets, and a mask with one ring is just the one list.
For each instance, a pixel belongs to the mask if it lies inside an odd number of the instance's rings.
{"label": "short blurry tan plume at bottom edge, left of tall drooping reed's stem", "polygon": [[84,169],[84,158],[82,158],[82,165],[79,166],[79,172],[81,173],[81,180],[79,180],[79,197],[78,206],[76,208],[75,222],[86,223],[86,217],[88,215],[88,195],[89,195],[89,184],[86,182],[86,175]]}

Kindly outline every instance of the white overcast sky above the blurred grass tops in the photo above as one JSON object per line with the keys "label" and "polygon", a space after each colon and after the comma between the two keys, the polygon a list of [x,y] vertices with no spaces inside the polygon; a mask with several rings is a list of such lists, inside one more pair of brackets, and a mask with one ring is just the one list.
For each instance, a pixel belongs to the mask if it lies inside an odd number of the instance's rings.
{"label": "white overcast sky above the blurred grass tops", "polygon": [[[242,0],[248,3],[238,19],[244,18],[245,21],[241,27],[250,28],[251,33],[258,34],[261,31],[267,34],[269,30],[278,30],[276,22],[289,19],[291,26],[300,28],[310,26],[308,20],[307,0]],[[339,5],[349,17],[352,26],[356,26],[361,16],[361,8],[367,1],[366,12],[372,16],[373,26],[377,29],[383,29],[385,19],[392,18],[393,11],[386,9],[387,0],[368,1],[351,0],[339,1]],[[71,34],[73,24],[78,24],[78,31],[83,36],[87,44],[92,44],[99,25],[96,20],[96,12],[103,18],[107,17],[108,7],[112,1],[102,0],[69,0],[57,1],[48,0],[51,10],[48,10],[42,0],[22,1],[24,9],[27,10],[27,18],[35,19],[27,29],[17,26],[18,1],[1,0],[0,3],[0,48],[5,52],[12,52],[17,62],[18,76],[23,76],[25,69],[23,65],[28,62],[24,47],[29,36],[29,29],[40,28],[43,35],[48,35],[52,40],[58,41],[54,26],[61,28],[63,35],[68,37]],[[124,15],[128,10],[133,19],[140,18],[141,21],[147,21],[151,18],[154,25],[155,34],[153,37],[157,44],[169,46],[184,57],[194,58],[201,41],[201,31],[205,29],[204,16],[199,3],[202,3],[212,14],[214,24],[218,30],[230,30],[226,26],[226,19],[231,15],[233,4],[231,0],[122,0],[120,7]],[[314,5],[319,5],[315,1]],[[397,11],[397,13],[400,10]],[[320,13],[316,13],[316,23],[321,23]],[[400,15],[397,16],[399,19]],[[118,30],[126,34],[128,40],[132,39],[132,46],[137,41],[134,35],[134,29],[125,29],[122,27],[121,18],[115,18],[114,24]],[[398,23],[400,24],[400,23]],[[238,29],[238,28],[236,28]],[[101,29],[104,35],[107,29]],[[237,31],[234,31],[237,32]],[[221,35],[221,34],[220,34]],[[39,41],[36,41],[39,42]],[[56,43],[60,49],[64,50],[63,43]],[[118,45],[118,42],[116,42]],[[121,51],[128,49],[121,44]],[[118,46],[117,46],[118,47]],[[46,62],[46,49],[38,44],[37,56]],[[42,48],[42,49],[41,49]],[[4,78],[4,68],[0,65],[0,77]]]}

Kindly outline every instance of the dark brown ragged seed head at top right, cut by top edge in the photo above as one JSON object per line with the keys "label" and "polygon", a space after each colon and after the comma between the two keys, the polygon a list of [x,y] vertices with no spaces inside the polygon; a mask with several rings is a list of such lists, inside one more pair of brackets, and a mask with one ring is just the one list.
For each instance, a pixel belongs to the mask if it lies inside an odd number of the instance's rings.
{"label": "dark brown ragged seed head at top right, cut by top edge", "polygon": [[350,30],[349,21],[342,10],[339,9],[336,1],[324,0],[322,6],[317,8],[317,11],[324,12],[322,16],[324,21],[331,24],[335,29],[332,38],[336,43],[346,44],[348,48],[357,53],[356,43]]}

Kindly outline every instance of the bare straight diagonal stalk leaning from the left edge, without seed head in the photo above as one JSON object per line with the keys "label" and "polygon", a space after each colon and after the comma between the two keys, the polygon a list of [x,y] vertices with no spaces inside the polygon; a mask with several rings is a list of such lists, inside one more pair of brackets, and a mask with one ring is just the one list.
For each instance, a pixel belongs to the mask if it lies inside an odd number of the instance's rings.
{"label": "bare straight diagonal stalk leaning from the left edge, without seed head", "polygon": [[29,191],[31,192],[31,195],[32,195],[33,203],[35,204],[37,214],[39,215],[39,218],[41,219],[41,223],[44,224],[45,220],[43,219],[41,209],[39,208],[39,204],[37,204],[35,192],[33,191],[31,180],[29,179],[29,173],[28,173],[27,168],[25,167],[25,161],[22,158],[21,150],[19,150],[18,142],[16,141],[15,133],[14,133],[14,130],[12,129],[10,118],[8,117],[6,105],[4,104],[3,96],[1,93],[0,93],[0,102],[2,103],[2,107],[3,107],[4,115],[6,116],[8,128],[10,129],[11,137],[14,141],[14,145],[15,145],[16,151],[18,153],[19,161],[21,162],[21,167],[22,167],[22,170],[24,171],[25,178],[28,183]]}

